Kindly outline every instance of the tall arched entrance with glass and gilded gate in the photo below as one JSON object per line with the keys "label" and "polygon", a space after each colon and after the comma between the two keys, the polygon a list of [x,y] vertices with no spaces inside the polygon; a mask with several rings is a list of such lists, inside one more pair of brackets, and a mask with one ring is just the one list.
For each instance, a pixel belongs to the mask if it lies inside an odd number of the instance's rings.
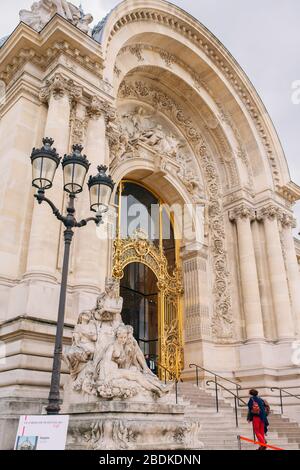
{"label": "tall arched entrance with glass and gilded gate", "polygon": [[116,198],[113,276],[121,281],[123,320],[133,326],[144,353],[157,357],[160,370],[166,367],[178,377],[183,288],[172,223],[162,201],[138,182],[122,181]]}

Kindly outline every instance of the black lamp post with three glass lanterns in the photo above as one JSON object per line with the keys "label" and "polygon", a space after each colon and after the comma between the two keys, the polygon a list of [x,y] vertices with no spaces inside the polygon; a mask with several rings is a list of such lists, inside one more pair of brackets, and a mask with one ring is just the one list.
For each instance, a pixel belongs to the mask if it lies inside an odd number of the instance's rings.
{"label": "black lamp post with three glass lanterns", "polygon": [[[67,293],[67,279],[69,271],[69,257],[73,229],[84,227],[88,222],[95,222],[98,226],[103,223],[102,214],[108,211],[109,200],[114,188],[114,182],[106,174],[107,167],[99,166],[98,174],[91,176],[88,182],[90,192],[90,210],[96,212],[95,217],[89,217],[77,222],[75,218],[76,195],[83,190],[84,181],[90,167],[85,155],[82,155],[83,147],[73,145],[73,152],[61,158],[52,147],[54,140],[48,137],[43,139],[41,149],[33,149],[31,153],[32,185],[37,188],[35,198],[39,204],[46,202],[52,209],[55,217],[65,226],[64,231],[64,258],[60,287],[57,328],[55,335],[55,348],[53,356],[51,386],[49,392],[47,414],[58,414],[60,411],[60,373],[63,348],[63,328],[65,317],[65,304]],[[66,215],[62,215],[52,201],[45,196],[45,191],[53,184],[55,172],[61,162],[64,176],[64,191],[68,194],[69,201]]]}

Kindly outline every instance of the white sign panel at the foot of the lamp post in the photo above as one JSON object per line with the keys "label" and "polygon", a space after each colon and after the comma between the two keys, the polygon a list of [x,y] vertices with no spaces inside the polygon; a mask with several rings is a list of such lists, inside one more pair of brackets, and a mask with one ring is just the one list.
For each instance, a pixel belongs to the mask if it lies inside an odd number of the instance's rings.
{"label": "white sign panel at the foot of the lamp post", "polygon": [[69,416],[21,416],[15,450],[64,450]]}

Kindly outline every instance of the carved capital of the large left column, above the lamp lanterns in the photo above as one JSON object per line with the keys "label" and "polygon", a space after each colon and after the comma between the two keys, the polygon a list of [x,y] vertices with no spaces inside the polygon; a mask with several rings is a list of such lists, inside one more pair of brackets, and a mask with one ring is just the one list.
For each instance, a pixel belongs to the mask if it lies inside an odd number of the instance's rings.
{"label": "carved capital of the large left column, above the lamp lanterns", "polygon": [[40,91],[40,100],[42,103],[48,103],[51,96],[55,100],[59,100],[66,95],[70,102],[78,101],[82,97],[82,88],[75,85],[74,80],[56,73],[50,80],[46,80],[46,85]]}

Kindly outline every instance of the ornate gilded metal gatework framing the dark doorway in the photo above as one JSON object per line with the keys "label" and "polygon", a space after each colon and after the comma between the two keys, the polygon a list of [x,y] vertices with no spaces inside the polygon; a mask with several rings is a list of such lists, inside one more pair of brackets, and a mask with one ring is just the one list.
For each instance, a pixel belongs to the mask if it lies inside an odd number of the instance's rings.
{"label": "ornate gilded metal gatework framing the dark doorway", "polygon": [[136,231],[132,238],[114,241],[113,277],[122,279],[130,263],[143,263],[157,277],[159,363],[179,378],[183,369],[182,335],[182,272],[168,272],[168,262],[161,250],[148,240],[145,233]]}

